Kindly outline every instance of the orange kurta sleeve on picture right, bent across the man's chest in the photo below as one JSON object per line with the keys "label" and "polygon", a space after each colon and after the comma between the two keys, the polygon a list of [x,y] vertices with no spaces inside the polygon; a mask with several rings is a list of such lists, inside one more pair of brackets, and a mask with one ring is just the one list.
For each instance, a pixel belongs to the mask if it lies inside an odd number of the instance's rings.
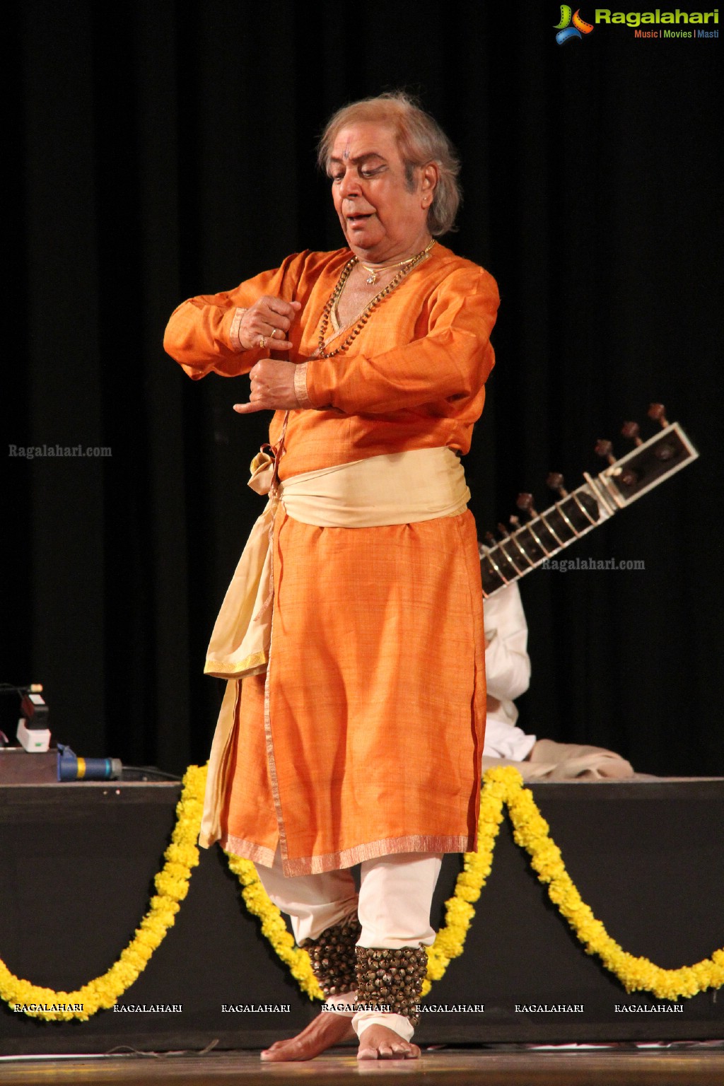
{"label": "orange kurta sleeve on picture right, bent across the man's chest", "polygon": [[487,272],[475,265],[455,269],[433,291],[411,343],[376,356],[345,356],[342,363],[339,356],[309,359],[310,406],[388,414],[474,396],[493,368],[490,334],[498,303]]}

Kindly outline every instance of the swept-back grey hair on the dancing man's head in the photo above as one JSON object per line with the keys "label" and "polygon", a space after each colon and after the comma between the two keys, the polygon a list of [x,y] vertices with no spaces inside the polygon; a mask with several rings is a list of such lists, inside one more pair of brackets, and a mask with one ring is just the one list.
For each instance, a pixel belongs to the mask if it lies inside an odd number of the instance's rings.
{"label": "swept-back grey hair on the dancing man's head", "polygon": [[415,188],[415,171],[434,162],[439,177],[435,194],[428,209],[428,229],[440,237],[455,228],[455,216],[462,193],[458,182],[460,162],[455,149],[434,117],[420,109],[416,99],[395,90],[377,98],[364,98],[343,106],[328,121],[317,150],[321,169],[329,173],[332,144],[347,125],[371,121],[394,129],[397,147],[405,163],[405,180],[410,191]]}

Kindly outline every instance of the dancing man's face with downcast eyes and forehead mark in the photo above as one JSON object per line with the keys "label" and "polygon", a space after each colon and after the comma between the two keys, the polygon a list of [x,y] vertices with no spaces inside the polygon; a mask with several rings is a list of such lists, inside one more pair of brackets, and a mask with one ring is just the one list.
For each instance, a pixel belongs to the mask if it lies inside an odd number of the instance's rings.
{"label": "dancing man's face with downcast eyes and forehead mark", "polygon": [[361,122],[342,128],[329,163],[332,198],[344,237],[356,255],[371,263],[401,260],[424,248],[429,187],[415,172],[412,191],[394,130]]}

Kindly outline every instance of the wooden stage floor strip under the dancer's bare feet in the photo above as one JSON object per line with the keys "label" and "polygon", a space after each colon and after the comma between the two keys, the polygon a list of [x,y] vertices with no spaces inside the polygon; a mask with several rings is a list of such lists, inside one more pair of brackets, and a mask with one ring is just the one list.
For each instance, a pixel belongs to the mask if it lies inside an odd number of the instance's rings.
{"label": "wooden stage floor strip under the dancer's bare feet", "polygon": [[421,1059],[359,1064],[338,1049],[308,1063],[261,1063],[257,1052],[0,1060],[2,1086],[348,1086],[370,1075],[378,1086],[722,1086],[724,1043],[677,1048],[447,1049]]}

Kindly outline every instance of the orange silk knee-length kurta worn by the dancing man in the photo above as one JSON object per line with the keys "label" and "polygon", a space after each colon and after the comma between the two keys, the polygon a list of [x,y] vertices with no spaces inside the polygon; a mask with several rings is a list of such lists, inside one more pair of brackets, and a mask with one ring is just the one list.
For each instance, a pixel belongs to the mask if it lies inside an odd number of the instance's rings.
{"label": "orange silk knee-length kurta worn by the dancing man", "polygon": [[[290,414],[282,481],[404,450],[466,453],[483,407],[494,279],[437,244],[346,352],[313,358],[348,258],[290,256],[185,302],[166,329],[166,350],[191,377],[234,377],[262,354],[241,350],[237,310],[262,294],[302,303],[289,357],[308,362],[313,406]],[[289,875],[472,849],[485,683],[471,514],[348,529],[303,525],[280,507],[274,564],[268,674],[238,684],[225,847],[270,864],[279,846]]]}

